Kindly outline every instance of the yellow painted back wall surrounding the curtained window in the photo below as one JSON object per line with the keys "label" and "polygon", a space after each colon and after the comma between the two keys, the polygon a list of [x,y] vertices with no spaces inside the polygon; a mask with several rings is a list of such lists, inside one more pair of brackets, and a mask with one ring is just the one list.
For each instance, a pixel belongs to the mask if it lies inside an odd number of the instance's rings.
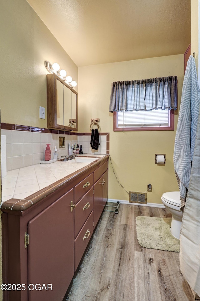
{"label": "yellow painted back wall surrounding the curtained window", "polygon": [[[100,131],[110,133],[110,156],[120,184],[128,192],[145,192],[151,183],[153,191],[147,195],[150,203],[161,203],[163,192],[178,190],[173,166],[178,115],[175,115],[175,131],[113,132],[113,114],[109,113],[111,83],[170,75],[178,76],[180,105],[183,54],[78,68],[78,131],[89,132],[90,119],[100,118]],[[155,164],[156,153],[166,154],[165,165]],[[111,164],[108,193],[110,199],[128,200],[129,197],[118,185]]]}

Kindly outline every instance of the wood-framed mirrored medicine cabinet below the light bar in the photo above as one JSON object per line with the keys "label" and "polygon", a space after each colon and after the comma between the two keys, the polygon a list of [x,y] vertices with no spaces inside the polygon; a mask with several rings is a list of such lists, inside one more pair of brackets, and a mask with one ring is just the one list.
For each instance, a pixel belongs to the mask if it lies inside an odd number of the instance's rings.
{"label": "wood-framed mirrored medicine cabinet below the light bar", "polygon": [[55,73],[47,74],[47,127],[78,131],[78,93]]}

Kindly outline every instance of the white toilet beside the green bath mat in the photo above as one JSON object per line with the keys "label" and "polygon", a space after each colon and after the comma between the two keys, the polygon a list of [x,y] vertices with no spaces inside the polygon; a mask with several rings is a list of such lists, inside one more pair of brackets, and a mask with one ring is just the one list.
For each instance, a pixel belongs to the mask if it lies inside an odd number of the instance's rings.
{"label": "white toilet beside the green bath mat", "polygon": [[163,193],[161,200],[165,208],[172,214],[171,233],[180,239],[183,213],[180,211],[180,192],[170,191]]}

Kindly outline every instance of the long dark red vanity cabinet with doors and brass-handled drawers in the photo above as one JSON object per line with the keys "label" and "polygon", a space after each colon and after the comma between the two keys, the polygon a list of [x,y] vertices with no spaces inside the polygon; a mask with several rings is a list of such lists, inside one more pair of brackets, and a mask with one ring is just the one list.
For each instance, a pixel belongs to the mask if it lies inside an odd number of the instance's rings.
{"label": "long dark red vanity cabinet with doors and brass-handled drawers", "polygon": [[28,200],[11,199],[17,210],[2,204],[3,283],[19,284],[4,301],[63,300],[108,198],[108,157],[54,183],[27,208]]}

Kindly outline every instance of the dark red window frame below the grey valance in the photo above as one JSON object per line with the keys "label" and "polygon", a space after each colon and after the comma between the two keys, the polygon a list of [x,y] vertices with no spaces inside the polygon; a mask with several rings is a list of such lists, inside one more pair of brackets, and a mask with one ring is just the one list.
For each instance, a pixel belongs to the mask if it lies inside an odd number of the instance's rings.
{"label": "dark red window frame below the grey valance", "polygon": [[113,131],[174,131],[174,109],[170,110],[170,125],[168,127],[117,127],[117,112],[113,112]]}

